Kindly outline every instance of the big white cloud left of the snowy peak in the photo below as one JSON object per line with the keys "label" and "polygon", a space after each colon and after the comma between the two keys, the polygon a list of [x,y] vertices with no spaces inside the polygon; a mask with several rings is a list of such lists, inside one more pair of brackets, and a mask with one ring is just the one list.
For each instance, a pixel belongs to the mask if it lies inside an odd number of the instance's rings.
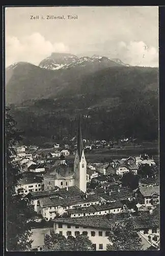
{"label": "big white cloud left of the snowy peak", "polygon": [[69,52],[69,48],[63,42],[52,44],[45,40],[40,33],[24,36],[20,40],[14,36],[6,36],[6,67],[18,61],[27,61],[38,65],[52,52]]}

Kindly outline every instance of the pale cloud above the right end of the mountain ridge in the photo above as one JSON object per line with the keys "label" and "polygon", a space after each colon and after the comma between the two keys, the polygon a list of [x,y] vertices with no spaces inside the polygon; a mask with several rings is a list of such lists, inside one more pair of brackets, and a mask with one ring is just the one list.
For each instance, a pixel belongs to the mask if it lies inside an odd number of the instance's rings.
{"label": "pale cloud above the right end of the mountain ridge", "polygon": [[158,67],[158,51],[143,41],[130,41],[127,44],[121,41],[117,52],[123,61],[132,66]]}

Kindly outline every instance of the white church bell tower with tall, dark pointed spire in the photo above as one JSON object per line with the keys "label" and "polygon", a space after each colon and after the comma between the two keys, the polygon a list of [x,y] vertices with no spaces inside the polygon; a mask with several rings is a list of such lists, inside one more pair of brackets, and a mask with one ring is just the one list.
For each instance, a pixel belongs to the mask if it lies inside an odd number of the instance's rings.
{"label": "white church bell tower with tall, dark pointed spire", "polygon": [[80,117],[78,120],[77,150],[74,159],[75,186],[84,193],[87,192],[87,162],[83,150]]}

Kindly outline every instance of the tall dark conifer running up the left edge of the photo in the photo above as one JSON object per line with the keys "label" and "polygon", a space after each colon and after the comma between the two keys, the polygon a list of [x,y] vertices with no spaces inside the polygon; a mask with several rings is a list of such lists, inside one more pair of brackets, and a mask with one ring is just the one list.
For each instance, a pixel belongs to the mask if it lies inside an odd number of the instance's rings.
{"label": "tall dark conifer running up the left edge of the photo", "polygon": [[32,232],[27,220],[32,218],[32,208],[28,199],[23,198],[21,191],[16,194],[15,187],[21,177],[19,163],[12,161],[12,146],[20,139],[15,128],[15,121],[6,110],[5,143],[6,143],[6,249],[24,251],[31,248]]}

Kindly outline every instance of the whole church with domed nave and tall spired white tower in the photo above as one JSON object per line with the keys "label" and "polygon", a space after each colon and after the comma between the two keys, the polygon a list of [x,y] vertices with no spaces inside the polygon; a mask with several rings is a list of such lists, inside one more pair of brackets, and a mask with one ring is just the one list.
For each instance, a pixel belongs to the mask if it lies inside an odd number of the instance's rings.
{"label": "whole church with domed nave and tall spired white tower", "polygon": [[65,157],[61,156],[58,166],[54,167],[51,173],[44,176],[44,190],[54,190],[56,186],[60,188],[76,186],[84,193],[87,191],[87,161],[82,144],[80,118],[74,166],[67,164]]}

